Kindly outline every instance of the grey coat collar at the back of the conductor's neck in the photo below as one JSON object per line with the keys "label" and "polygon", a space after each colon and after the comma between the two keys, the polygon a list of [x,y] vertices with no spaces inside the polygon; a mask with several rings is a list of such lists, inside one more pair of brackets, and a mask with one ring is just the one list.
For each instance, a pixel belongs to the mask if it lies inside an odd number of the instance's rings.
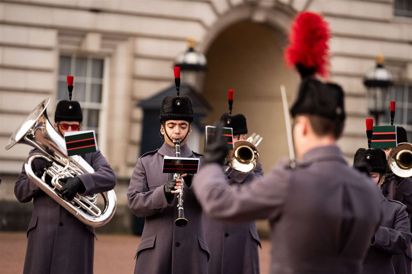
{"label": "grey coat collar at the back of the conductor's neck", "polygon": [[339,161],[347,164],[339,147],[336,145],[326,145],[312,148],[306,152],[306,154],[303,155],[302,161],[298,162],[298,165],[302,166],[321,161]]}

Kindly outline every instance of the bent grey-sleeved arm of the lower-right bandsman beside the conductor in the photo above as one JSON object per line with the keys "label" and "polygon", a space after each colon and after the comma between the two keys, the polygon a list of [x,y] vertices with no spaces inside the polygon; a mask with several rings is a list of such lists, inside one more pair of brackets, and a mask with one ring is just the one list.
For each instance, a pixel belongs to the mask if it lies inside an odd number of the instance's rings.
{"label": "bent grey-sleeved arm of the lower-right bandsman beside the conductor", "polygon": [[409,226],[406,206],[403,205],[395,216],[393,228],[379,226],[372,246],[393,255],[405,253],[410,248],[412,238]]}

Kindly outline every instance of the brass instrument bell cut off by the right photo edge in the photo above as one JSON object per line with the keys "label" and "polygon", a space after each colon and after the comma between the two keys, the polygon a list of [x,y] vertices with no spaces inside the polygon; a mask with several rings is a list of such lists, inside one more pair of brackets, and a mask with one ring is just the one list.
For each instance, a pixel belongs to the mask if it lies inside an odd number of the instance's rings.
{"label": "brass instrument bell cut off by the right photo edge", "polygon": [[412,176],[412,144],[399,143],[388,155],[388,166],[399,177]]}

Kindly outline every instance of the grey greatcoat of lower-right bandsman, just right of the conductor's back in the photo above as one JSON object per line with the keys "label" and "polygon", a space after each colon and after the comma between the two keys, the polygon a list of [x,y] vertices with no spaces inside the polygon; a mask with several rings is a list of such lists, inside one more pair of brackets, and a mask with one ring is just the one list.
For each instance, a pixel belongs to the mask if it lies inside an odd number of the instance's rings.
{"label": "grey greatcoat of lower-right bandsman, just right of the conductor's back", "polygon": [[364,274],[395,274],[392,257],[405,253],[412,238],[406,206],[382,194],[381,200],[383,218],[370,242]]}

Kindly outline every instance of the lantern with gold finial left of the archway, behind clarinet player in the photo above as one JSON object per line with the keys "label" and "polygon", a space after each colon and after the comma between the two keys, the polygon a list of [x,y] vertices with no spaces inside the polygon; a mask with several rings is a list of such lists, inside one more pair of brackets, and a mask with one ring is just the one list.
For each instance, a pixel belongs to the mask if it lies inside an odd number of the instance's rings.
{"label": "lantern with gold finial left of the archway, behind clarinet player", "polygon": [[206,57],[203,53],[194,49],[196,42],[190,38],[187,40],[189,48],[187,51],[179,53],[175,59],[174,67],[180,67],[182,82],[194,87],[201,92],[204,74],[206,71]]}

